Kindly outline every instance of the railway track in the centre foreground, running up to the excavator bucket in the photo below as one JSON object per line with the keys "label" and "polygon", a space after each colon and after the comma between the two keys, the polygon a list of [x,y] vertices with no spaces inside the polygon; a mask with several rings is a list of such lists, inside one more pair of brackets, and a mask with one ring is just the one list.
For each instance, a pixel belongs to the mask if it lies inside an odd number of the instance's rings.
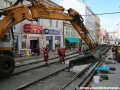
{"label": "railway track in the centre foreground, running up to the excavator bucket", "polygon": [[[49,75],[44,76],[42,78],[39,78],[35,81],[27,83],[23,86],[20,86],[20,87],[16,88],[16,90],[23,90],[23,89],[24,90],[37,90],[38,86],[42,87],[40,89],[43,89],[43,90],[58,90],[60,86],[64,85],[64,83],[68,83],[70,81],[73,81],[80,74],[82,74],[88,68],[90,68],[91,65],[92,64],[86,65],[84,67],[84,69],[79,73],[66,72],[66,70],[68,68],[68,66],[67,66],[61,70],[58,70],[57,72],[54,72],[52,74],[49,74]],[[52,82],[50,83],[50,81],[52,81]],[[46,89],[45,85],[49,85],[49,87],[47,87],[47,89]]]}

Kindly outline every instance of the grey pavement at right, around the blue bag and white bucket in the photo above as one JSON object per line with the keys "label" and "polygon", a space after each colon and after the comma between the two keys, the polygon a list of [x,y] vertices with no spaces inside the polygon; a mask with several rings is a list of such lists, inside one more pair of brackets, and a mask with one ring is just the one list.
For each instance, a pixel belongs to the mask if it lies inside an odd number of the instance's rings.
{"label": "grey pavement at right, around the blue bag and white bucket", "polygon": [[101,75],[107,75],[108,80],[101,80],[99,83],[95,83],[94,79],[92,81],[92,87],[96,87],[94,90],[120,90],[120,63],[118,63],[116,60],[113,59],[113,54],[111,52],[112,50],[109,50],[108,56],[105,59],[105,61],[109,61],[112,63],[104,63],[103,65],[107,65],[108,67],[115,68],[116,70],[109,70],[110,73],[103,74],[98,72],[95,76],[101,77]]}

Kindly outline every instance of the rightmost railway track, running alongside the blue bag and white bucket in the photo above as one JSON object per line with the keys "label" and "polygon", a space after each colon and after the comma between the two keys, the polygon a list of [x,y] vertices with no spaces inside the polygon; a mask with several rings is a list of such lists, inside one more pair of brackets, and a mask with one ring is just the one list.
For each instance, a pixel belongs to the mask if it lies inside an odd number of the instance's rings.
{"label": "rightmost railway track, running alongside the blue bag and white bucket", "polygon": [[107,51],[109,50],[108,48],[104,48],[104,53],[105,55],[102,57],[102,60],[96,64],[93,65],[92,68],[87,70],[83,75],[80,77],[77,77],[72,82],[66,83],[64,86],[61,86],[59,90],[81,90],[80,87],[89,87],[90,82],[92,81],[92,77],[95,74],[95,68],[100,67],[102,63],[104,62],[105,58],[108,56]]}

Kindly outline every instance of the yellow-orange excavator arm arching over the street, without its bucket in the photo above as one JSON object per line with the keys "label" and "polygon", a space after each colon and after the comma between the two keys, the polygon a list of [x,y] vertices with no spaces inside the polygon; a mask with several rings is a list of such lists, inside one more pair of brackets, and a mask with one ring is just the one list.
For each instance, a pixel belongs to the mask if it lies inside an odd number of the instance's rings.
{"label": "yellow-orange excavator arm arching over the street, without its bucket", "polygon": [[48,7],[43,3],[34,3],[28,6],[18,4],[7,9],[3,9],[5,17],[0,20],[0,39],[8,32],[9,28],[21,21],[42,19],[57,19],[70,21],[75,30],[92,50],[96,49],[96,44],[83,24],[82,16],[75,10],[59,7]]}

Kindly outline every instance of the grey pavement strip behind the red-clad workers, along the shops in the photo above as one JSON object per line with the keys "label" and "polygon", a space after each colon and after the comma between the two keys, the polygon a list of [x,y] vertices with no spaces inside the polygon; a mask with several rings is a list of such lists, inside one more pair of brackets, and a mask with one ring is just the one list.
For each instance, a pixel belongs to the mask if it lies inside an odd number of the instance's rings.
{"label": "grey pavement strip behind the red-clad workers, along the shops", "polygon": [[[66,50],[66,55],[71,54],[71,53],[75,53],[76,51],[77,51],[76,48],[72,49],[72,50],[67,49]],[[58,57],[57,51],[50,51],[49,52],[49,59],[50,58],[54,58],[54,57]],[[35,56],[15,57],[14,60],[16,62],[19,62],[19,61],[39,59],[39,58],[43,58],[43,54],[42,53],[40,55],[38,55],[38,56],[35,55]]]}

